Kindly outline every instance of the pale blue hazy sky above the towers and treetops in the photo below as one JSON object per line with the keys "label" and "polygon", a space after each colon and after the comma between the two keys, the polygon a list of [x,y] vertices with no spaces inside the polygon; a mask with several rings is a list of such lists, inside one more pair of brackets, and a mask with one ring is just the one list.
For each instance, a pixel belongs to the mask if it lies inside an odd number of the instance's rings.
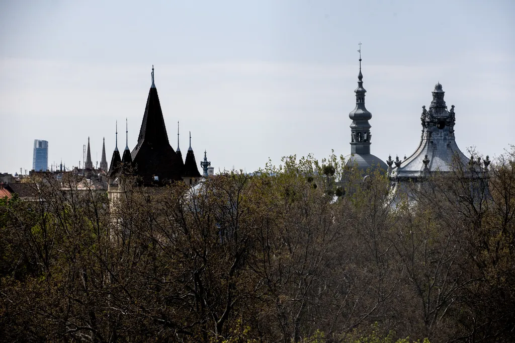
{"label": "pale blue hazy sky above the towers and treetops", "polygon": [[197,163],[204,149],[215,171],[348,155],[359,41],[374,155],[417,148],[438,81],[462,151],[515,144],[512,0],[4,0],[0,172],[30,169],[34,139],[71,167],[88,136],[100,162],[105,137],[110,162],[126,117],[132,150],[152,64],[170,144],[180,121]]}

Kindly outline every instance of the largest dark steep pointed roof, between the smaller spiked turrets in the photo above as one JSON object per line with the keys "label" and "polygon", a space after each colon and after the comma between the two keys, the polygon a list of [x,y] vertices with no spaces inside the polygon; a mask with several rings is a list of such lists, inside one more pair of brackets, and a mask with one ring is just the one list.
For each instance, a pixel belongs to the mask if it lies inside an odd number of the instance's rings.
{"label": "largest dark steep pointed roof, between the smaller spiked turrets", "polygon": [[155,184],[181,180],[182,164],[170,146],[158,91],[154,82],[152,66],[152,85],[148,92],[147,104],[141,123],[138,144],[132,150],[132,161],[136,174],[143,183]]}

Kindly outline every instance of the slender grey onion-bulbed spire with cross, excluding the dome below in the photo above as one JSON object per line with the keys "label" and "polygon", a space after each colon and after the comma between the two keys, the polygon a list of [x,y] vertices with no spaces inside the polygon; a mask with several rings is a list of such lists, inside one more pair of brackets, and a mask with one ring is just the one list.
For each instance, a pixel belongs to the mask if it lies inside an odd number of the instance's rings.
{"label": "slender grey onion-bulbed spire with cross, excluding the dome below", "polygon": [[357,51],[359,53],[359,74],[357,76],[357,88],[354,90],[354,93],[356,93],[356,107],[349,113],[349,118],[352,119],[350,126],[351,153],[369,154],[371,125],[368,121],[372,118],[372,113],[365,107],[365,93],[367,93],[367,91],[363,88],[363,74],[361,72],[361,42],[359,43],[359,49]]}

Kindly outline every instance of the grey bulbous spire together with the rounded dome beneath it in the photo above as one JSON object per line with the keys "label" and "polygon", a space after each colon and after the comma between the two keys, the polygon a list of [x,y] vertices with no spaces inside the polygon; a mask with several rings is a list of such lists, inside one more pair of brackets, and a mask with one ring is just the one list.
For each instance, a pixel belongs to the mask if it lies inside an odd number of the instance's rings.
{"label": "grey bulbous spire together with the rounded dome beneath it", "polygon": [[367,170],[375,168],[379,165],[380,168],[386,170],[387,165],[378,157],[371,155],[370,144],[372,134],[370,128],[372,127],[368,122],[372,118],[370,113],[365,107],[365,93],[367,91],[363,88],[363,74],[361,72],[361,43],[359,43],[359,74],[358,87],[354,90],[356,93],[356,107],[349,113],[349,118],[352,119],[351,128],[351,155],[346,156],[347,165],[357,165],[360,170]]}

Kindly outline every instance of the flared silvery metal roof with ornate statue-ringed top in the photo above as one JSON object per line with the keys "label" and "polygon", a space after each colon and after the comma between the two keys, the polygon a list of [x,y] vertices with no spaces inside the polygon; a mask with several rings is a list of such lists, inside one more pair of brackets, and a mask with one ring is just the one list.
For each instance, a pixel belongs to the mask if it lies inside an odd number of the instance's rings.
{"label": "flared silvery metal roof with ornate statue-ringed top", "polygon": [[442,85],[439,82],[435,84],[431,106],[428,110],[422,106],[420,116],[422,134],[419,146],[402,163],[396,162],[396,166],[390,168],[391,179],[418,178],[434,170],[451,171],[453,162],[456,162],[455,158],[465,165],[469,162],[469,158],[456,144],[454,105],[451,106],[450,111],[447,109],[443,99],[444,94]]}

